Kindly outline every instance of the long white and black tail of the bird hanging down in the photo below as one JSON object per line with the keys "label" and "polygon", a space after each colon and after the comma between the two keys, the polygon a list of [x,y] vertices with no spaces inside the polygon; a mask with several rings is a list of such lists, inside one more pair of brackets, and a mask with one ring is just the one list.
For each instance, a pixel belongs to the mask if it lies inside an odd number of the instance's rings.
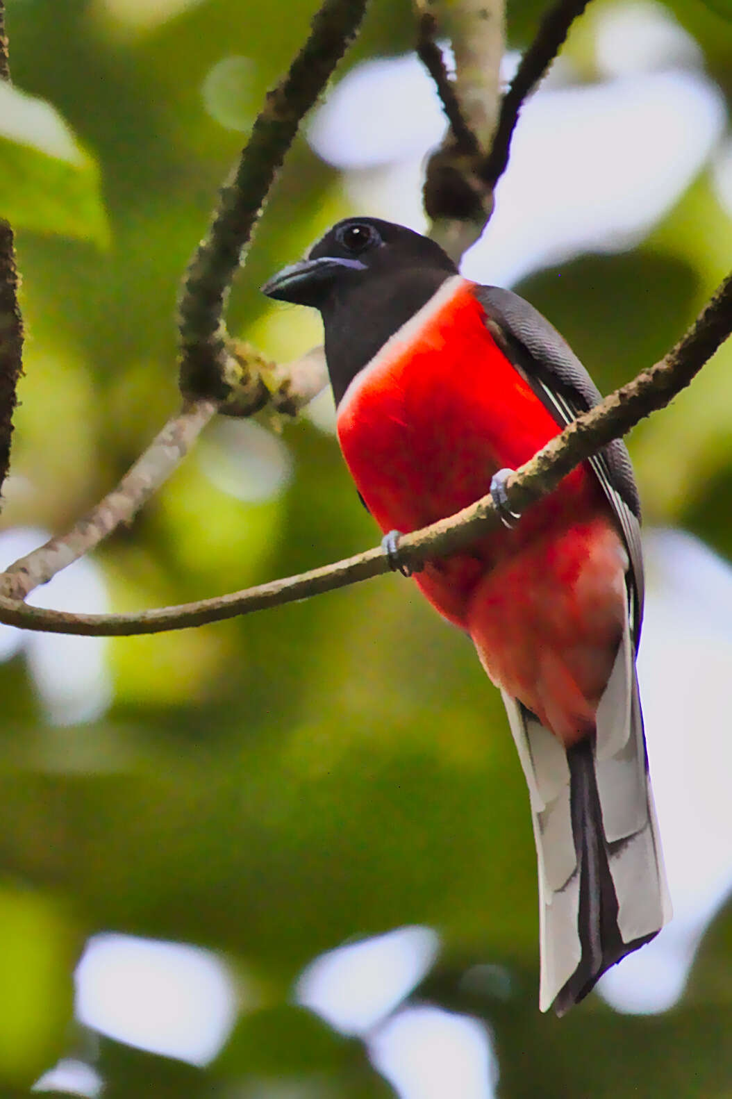
{"label": "long white and black tail of the bird hanging down", "polygon": [[670,919],[630,632],[596,734],[569,751],[503,692],[539,859],[540,1008],[558,1015]]}

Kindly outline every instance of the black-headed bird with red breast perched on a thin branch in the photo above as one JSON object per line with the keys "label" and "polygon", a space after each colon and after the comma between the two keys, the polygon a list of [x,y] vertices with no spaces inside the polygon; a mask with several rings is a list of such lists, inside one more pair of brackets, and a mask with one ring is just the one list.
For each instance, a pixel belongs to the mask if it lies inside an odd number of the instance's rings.
{"label": "black-headed bird with red breast perched on a thin branch", "polygon": [[262,289],[320,311],[341,451],[392,567],[401,533],[487,491],[497,504],[500,528],[413,580],[501,692],[537,855],[540,1009],[563,1015],[670,918],[635,669],[628,451],[610,443],[510,511],[510,473],[600,393],[529,302],[464,278],[403,225],[340,221]]}

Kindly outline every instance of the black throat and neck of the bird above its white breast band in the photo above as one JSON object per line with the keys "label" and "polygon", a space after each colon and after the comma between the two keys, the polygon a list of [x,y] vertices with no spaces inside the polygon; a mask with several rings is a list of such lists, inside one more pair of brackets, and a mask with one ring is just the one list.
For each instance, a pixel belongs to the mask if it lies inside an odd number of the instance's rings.
{"label": "black throat and neck of the bird above its white breast band", "polygon": [[321,313],[336,404],[358,371],[453,274],[431,267],[404,267],[334,288],[321,306]]}

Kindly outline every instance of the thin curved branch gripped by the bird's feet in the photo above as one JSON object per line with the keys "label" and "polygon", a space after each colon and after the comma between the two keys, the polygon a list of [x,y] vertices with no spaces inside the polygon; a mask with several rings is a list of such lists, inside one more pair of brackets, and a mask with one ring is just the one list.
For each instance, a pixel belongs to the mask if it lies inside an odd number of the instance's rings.
{"label": "thin curved branch gripped by the bird's feet", "polygon": [[[509,508],[517,512],[524,511],[531,503],[555,489],[562,478],[580,462],[607,446],[611,440],[626,434],[651,412],[668,404],[689,385],[730,332],[732,275],[720,286],[686,335],[659,363],[578,417],[508,479]],[[397,560],[414,567],[430,557],[452,553],[485,534],[497,521],[492,499],[489,495],[485,496],[455,515],[404,534],[399,542]],[[0,621],[51,633],[95,636],[160,633],[279,607],[379,576],[388,570],[389,563],[379,546],[334,565],[218,599],[135,614],[69,614],[0,598]]]}

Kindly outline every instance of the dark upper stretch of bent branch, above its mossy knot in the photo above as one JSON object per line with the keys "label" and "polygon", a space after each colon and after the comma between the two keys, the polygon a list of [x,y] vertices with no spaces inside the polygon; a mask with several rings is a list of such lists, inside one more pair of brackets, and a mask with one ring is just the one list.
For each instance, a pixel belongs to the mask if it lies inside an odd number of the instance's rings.
{"label": "dark upper stretch of bent branch, above its mossy knot", "polygon": [[[268,92],[265,107],[239,164],[223,185],[208,234],[198,246],[184,278],[179,301],[180,382],[185,395],[224,399],[232,377],[241,385],[232,362],[223,312],[229,289],[248,244],[263,203],[289,149],[298,126],[325,87],[333,69],[355,36],[367,0],[324,0],[312,21],[310,37],[280,84]],[[266,391],[251,379],[262,402]]]}

